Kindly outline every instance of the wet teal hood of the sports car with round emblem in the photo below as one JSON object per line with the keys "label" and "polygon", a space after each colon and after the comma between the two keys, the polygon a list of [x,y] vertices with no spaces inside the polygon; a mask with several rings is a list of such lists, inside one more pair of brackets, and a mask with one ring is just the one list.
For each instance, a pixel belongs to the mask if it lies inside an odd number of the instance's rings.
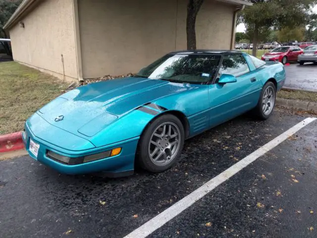
{"label": "wet teal hood of the sports car with round emblem", "polygon": [[[186,85],[186,86],[185,86]],[[158,98],[195,89],[195,85],[127,77],[69,91],[37,113],[49,123],[79,136],[92,136],[114,120]]]}

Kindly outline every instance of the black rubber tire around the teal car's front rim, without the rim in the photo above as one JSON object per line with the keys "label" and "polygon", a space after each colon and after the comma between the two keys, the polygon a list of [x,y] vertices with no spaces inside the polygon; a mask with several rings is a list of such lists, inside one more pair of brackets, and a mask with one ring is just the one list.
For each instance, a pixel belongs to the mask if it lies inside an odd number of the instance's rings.
{"label": "black rubber tire around the teal car's front rim, without the rim", "polygon": [[[177,151],[176,156],[165,166],[158,166],[156,164],[153,163],[153,161],[150,158],[149,155],[149,143],[151,140],[151,136],[154,133],[154,131],[156,130],[156,128],[164,123],[164,122],[173,122],[174,124],[176,124],[179,128],[180,131],[180,137],[179,137],[179,141],[180,141],[180,145],[179,145],[179,149]],[[182,122],[175,117],[174,115],[171,114],[164,114],[156,119],[154,119],[153,121],[151,121],[147,127],[145,128],[145,130],[143,131],[139,144],[138,144],[138,149],[137,149],[137,163],[145,170],[149,171],[149,172],[153,172],[153,173],[160,173],[163,172],[165,170],[168,170],[169,168],[171,168],[173,165],[175,165],[175,163],[177,162],[179,155],[182,152],[183,149],[183,145],[184,145],[184,139],[185,139],[185,132],[184,132],[184,127]]]}

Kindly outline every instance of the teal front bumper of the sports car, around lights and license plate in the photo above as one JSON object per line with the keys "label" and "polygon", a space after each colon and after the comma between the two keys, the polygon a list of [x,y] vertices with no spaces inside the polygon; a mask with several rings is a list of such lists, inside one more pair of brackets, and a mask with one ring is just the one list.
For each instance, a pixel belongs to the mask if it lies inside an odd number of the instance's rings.
{"label": "teal front bumper of the sports car, around lights and license plate", "polygon": [[[40,145],[37,157],[29,150],[30,138]],[[139,137],[121,141],[104,147],[83,151],[70,151],[64,148],[58,148],[57,146],[50,144],[41,138],[38,138],[36,135],[33,134],[29,126],[25,124],[25,132],[23,133],[22,139],[30,157],[41,162],[42,164],[53,168],[54,170],[57,170],[62,174],[76,175],[105,172],[110,177],[116,177],[115,174],[131,174],[131,172],[133,173],[134,158]],[[119,155],[78,165],[67,165],[47,157],[48,150],[53,151],[54,153],[57,153],[59,155],[77,158],[81,156],[101,153],[117,147],[122,148]]]}

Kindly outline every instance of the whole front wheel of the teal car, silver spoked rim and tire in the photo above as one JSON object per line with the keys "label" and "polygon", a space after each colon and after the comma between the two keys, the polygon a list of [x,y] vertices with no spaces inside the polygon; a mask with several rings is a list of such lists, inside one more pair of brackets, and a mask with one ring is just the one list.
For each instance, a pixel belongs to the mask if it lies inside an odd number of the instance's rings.
{"label": "whole front wheel of the teal car, silver spoked rim and tire", "polygon": [[143,132],[137,153],[140,166],[159,173],[171,168],[181,154],[184,127],[175,116],[166,114],[152,121]]}

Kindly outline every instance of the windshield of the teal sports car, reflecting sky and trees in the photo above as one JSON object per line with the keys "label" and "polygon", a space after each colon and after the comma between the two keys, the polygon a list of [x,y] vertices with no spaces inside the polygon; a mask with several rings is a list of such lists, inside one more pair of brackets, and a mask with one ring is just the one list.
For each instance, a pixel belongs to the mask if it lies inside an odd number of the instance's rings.
{"label": "windshield of the teal sports car, reflecting sky and trees", "polygon": [[142,68],[135,77],[172,82],[203,83],[210,81],[220,62],[219,55],[166,55]]}

